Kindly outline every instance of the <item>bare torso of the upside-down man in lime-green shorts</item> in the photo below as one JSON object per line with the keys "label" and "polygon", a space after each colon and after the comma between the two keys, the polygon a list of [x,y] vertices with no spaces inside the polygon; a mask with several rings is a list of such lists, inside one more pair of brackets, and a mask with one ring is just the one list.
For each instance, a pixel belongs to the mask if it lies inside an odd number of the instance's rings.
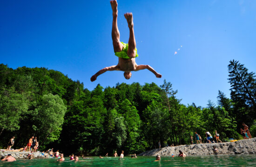
{"label": "bare torso of the upside-down man in lime-green shorts", "polygon": [[126,59],[126,58],[118,58],[117,68],[120,71],[135,71],[137,64],[135,62],[135,58]]}

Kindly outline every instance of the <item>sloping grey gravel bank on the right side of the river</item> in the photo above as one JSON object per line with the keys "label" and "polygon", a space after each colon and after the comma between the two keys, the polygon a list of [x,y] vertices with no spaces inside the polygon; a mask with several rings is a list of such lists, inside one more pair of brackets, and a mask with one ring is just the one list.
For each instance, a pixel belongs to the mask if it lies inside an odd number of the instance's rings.
{"label": "sloping grey gravel bank on the right side of the river", "polygon": [[181,145],[176,147],[158,148],[150,151],[145,151],[139,155],[141,156],[171,156],[179,154],[182,150],[187,156],[189,155],[211,155],[213,153],[213,146],[219,151],[219,154],[256,154],[256,137],[252,139],[244,139],[234,142],[222,143],[202,143],[192,145]]}

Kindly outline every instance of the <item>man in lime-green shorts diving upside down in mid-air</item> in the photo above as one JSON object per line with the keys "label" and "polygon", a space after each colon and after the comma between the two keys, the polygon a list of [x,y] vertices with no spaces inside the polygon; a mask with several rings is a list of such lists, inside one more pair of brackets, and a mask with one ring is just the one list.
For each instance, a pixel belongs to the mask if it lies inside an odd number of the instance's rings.
{"label": "man in lime-green shorts diving upside down in mid-air", "polygon": [[137,54],[136,41],[134,36],[132,13],[124,14],[124,17],[127,19],[128,27],[130,30],[128,44],[120,42],[120,33],[117,27],[117,1],[111,0],[110,4],[113,11],[112,40],[113,40],[115,55],[119,57],[118,64],[101,69],[91,77],[91,81],[92,82],[95,81],[99,75],[103,74],[106,71],[124,71],[124,74],[123,74],[124,77],[126,79],[130,79],[130,77],[132,76],[131,71],[139,71],[144,69],[148,69],[149,71],[153,72],[155,74],[155,77],[161,78],[162,75],[157,73],[149,65],[137,65],[135,62],[135,58],[138,57],[138,54]]}

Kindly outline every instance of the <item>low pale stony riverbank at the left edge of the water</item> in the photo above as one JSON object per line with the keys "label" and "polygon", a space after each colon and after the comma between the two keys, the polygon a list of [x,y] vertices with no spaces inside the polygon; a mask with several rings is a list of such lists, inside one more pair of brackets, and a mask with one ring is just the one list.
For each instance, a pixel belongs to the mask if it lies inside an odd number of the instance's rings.
{"label": "low pale stony riverbank at the left edge of the water", "polygon": [[[24,159],[24,158],[27,158],[27,155],[29,154],[30,152],[16,152],[16,151],[0,151],[0,157],[3,157],[3,156],[7,156],[8,154],[12,154],[12,156],[15,158],[15,159]],[[46,158],[44,155],[42,155],[40,152],[35,152],[35,153],[32,153],[33,154],[33,158]]]}

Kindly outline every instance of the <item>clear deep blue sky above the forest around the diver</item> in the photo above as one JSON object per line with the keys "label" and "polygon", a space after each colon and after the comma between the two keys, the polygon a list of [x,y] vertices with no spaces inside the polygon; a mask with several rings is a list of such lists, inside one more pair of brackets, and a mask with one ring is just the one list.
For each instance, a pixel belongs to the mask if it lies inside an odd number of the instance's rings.
{"label": "clear deep blue sky above the forest around the diver", "polygon": [[90,82],[118,63],[109,0],[1,0],[0,63],[61,71],[89,90],[166,79],[183,104],[202,107],[216,103],[218,90],[229,97],[229,60],[256,72],[256,0],[118,0],[118,9],[121,41],[129,35],[123,14],[132,12],[136,62],[162,78],[144,70],[126,80],[123,72],[108,71]]}

